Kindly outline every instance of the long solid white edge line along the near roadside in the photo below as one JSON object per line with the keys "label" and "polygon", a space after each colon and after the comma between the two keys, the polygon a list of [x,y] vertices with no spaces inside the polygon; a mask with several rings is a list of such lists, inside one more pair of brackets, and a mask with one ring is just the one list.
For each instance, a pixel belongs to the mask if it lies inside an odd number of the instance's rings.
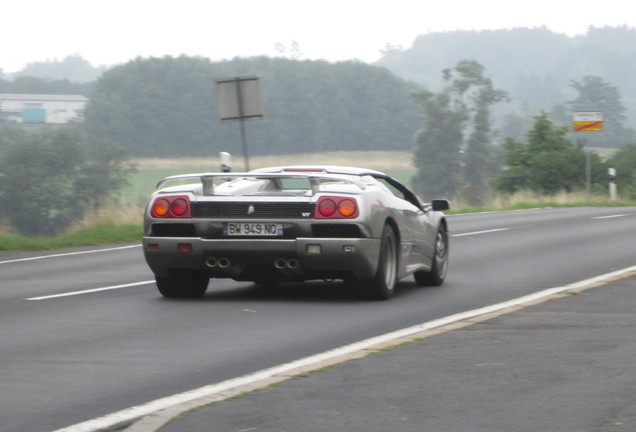
{"label": "long solid white edge line along the near roadside", "polygon": [[323,361],[327,361],[336,357],[340,357],[340,356],[351,354],[360,350],[364,350],[384,342],[412,336],[426,330],[442,327],[442,326],[449,325],[458,321],[472,319],[481,315],[497,312],[497,311],[504,310],[510,307],[520,306],[526,303],[531,303],[535,300],[550,297],[552,295],[559,294],[565,291],[581,289],[590,285],[594,285],[601,281],[610,280],[610,279],[613,279],[618,276],[622,276],[634,271],[636,271],[636,266],[628,267],[622,270],[617,270],[611,273],[606,273],[604,275],[596,276],[596,277],[586,279],[580,282],[575,282],[570,285],[549,288],[543,291],[536,292],[534,294],[529,294],[527,296],[519,297],[519,298],[509,300],[503,303],[498,303],[495,305],[486,306],[479,309],[473,309],[470,311],[461,312],[455,315],[429,321],[429,322],[419,324],[413,327],[408,327],[402,330],[386,333],[384,335],[372,337],[372,338],[365,339],[359,342],[354,342],[352,344],[345,345],[340,348],[336,348],[336,349],[326,351],[320,354],[316,354],[313,356],[305,357],[305,358],[292,361],[290,363],[282,364],[279,366],[274,366],[269,369],[263,369],[261,371],[244,375],[238,378],[229,379],[227,381],[222,381],[220,383],[207,385],[207,386],[190,390],[184,393],[179,393],[179,394],[168,396],[165,398],[156,399],[154,401],[148,402],[143,405],[137,405],[131,408],[114,412],[112,414],[105,415],[103,417],[98,417],[93,420],[88,420],[83,423],[78,423],[63,429],[58,429],[53,432],[97,432],[100,430],[109,429],[114,427],[115,425],[131,422],[141,417],[147,416],[149,414],[156,413],[157,411],[161,411],[163,409],[173,407],[175,405],[183,404],[186,402],[192,402],[196,399],[200,399],[203,397],[210,397],[215,394],[219,394],[224,391],[234,389],[240,386],[254,384],[261,380],[272,378],[276,375],[281,375],[300,367],[307,367],[307,366],[320,364]]}

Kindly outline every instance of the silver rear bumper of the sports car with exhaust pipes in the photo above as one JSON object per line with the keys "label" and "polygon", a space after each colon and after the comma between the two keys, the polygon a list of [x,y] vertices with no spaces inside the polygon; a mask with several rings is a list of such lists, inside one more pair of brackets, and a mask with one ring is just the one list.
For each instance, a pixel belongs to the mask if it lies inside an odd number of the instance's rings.
{"label": "silver rear bumper of the sports car with exhaust pipes", "polygon": [[144,237],[143,249],[158,276],[193,269],[236,280],[370,279],[377,270],[380,240]]}

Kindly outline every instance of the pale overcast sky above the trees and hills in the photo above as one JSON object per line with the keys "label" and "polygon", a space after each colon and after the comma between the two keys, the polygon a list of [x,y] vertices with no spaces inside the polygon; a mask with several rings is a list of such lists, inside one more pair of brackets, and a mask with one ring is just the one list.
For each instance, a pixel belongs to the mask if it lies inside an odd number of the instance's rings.
{"label": "pale overcast sky above the trees and hills", "polygon": [[[630,0],[7,0],[0,70],[78,54],[94,66],[181,54],[373,62],[387,45],[453,30],[636,27]],[[289,51],[287,52],[289,54]]]}

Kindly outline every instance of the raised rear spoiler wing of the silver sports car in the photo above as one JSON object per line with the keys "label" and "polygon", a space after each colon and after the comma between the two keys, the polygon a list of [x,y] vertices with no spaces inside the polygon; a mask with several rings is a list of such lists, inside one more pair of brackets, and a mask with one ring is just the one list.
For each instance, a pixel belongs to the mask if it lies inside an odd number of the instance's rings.
{"label": "raised rear spoiler wing of the silver sports car", "polygon": [[342,181],[356,185],[360,190],[365,190],[367,186],[364,182],[356,177],[350,175],[340,174],[322,174],[313,172],[287,172],[287,173],[229,173],[229,172],[216,172],[216,173],[198,173],[198,174],[182,174],[176,176],[166,177],[157,183],[156,188],[159,189],[165,183],[177,180],[187,180],[198,178],[203,186],[203,195],[214,195],[214,180],[221,178],[224,180],[242,179],[242,178],[255,178],[255,179],[277,179],[277,178],[306,178],[311,184],[312,195],[317,194],[320,191],[320,180],[335,180]]}

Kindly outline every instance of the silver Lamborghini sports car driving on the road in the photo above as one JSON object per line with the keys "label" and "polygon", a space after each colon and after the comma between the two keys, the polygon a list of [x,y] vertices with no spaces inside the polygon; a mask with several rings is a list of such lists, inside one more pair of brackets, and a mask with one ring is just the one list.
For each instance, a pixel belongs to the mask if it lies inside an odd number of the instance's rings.
{"label": "silver Lamborghini sports car driving on the road", "polygon": [[378,171],[286,166],[173,176],[157,188],[143,248],[165,297],[201,297],[215,278],[341,279],[386,300],[408,275],[418,285],[446,277],[448,201],[424,203]]}

